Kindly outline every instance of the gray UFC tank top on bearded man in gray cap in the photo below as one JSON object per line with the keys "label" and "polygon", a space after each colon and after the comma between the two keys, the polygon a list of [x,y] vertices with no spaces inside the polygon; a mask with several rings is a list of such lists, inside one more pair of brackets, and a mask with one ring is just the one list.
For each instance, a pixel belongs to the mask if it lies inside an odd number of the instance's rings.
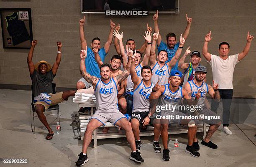
{"label": "gray UFC tank top on bearded man in gray cap", "polygon": [[195,100],[197,92],[200,92],[201,97],[197,102],[197,106],[201,105],[203,108],[205,108],[205,99],[206,99],[206,94],[208,93],[207,83],[203,81],[201,86],[197,86],[194,80],[188,81],[188,83],[191,89],[191,99]]}

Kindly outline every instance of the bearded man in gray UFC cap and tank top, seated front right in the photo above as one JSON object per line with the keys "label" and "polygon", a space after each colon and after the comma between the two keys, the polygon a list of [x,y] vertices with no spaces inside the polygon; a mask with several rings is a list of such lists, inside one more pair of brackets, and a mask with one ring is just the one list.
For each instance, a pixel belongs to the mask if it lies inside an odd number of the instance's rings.
{"label": "bearded man in gray UFC cap and tank top, seated front right", "polygon": [[[212,81],[212,86],[205,83],[204,80],[206,78],[207,69],[205,66],[197,66],[195,68],[195,79],[192,81],[188,81],[184,88],[187,90],[189,96],[191,96],[192,100],[196,99],[196,96],[200,96],[200,99],[197,102],[197,106],[200,106],[200,109],[197,110],[197,113],[203,114],[204,116],[213,116],[213,119],[202,119],[203,122],[210,125],[210,128],[205,136],[205,139],[202,140],[202,144],[210,147],[212,149],[217,149],[218,146],[210,141],[210,138],[212,137],[212,134],[218,129],[220,126],[220,119],[217,119],[219,117],[215,112],[210,111],[205,106],[205,100],[206,100],[206,94],[209,94],[212,99],[216,101],[220,101],[220,92],[218,91],[218,84],[214,83]],[[197,150],[199,150],[199,145],[197,142],[197,139],[194,139],[193,147]]]}

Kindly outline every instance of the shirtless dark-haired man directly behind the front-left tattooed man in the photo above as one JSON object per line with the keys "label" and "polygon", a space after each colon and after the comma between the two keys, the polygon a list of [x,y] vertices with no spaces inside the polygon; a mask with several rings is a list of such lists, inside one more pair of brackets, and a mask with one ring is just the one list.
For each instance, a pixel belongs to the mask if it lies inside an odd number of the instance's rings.
{"label": "shirtless dark-haired man directly behind the front-left tattooed man", "polygon": [[[92,49],[92,51],[95,54],[95,60],[97,61],[98,66],[100,68],[100,66],[103,64],[103,62],[100,59],[100,56],[97,52],[97,48]],[[123,63],[123,59],[121,58],[121,56],[119,56],[119,55],[112,56],[109,63],[110,63],[110,68],[111,68],[110,77],[114,78],[115,76],[118,76],[119,74],[123,73],[123,71],[121,71],[119,69],[121,63]],[[119,93],[121,90],[121,83],[119,83],[117,86],[118,86],[118,93]],[[92,87],[90,87],[89,89],[92,89],[91,91],[93,91]],[[119,106],[119,111],[122,114],[126,114],[127,103],[126,103],[125,97],[122,96],[122,94],[118,94],[118,106]],[[102,132],[107,133],[108,129],[109,129],[109,127],[104,127],[104,129],[102,129]]]}

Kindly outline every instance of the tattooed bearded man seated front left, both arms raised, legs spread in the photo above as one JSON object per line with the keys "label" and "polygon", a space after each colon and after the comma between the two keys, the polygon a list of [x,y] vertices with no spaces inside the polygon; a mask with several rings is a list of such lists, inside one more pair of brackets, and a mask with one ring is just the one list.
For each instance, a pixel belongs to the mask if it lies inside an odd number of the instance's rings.
{"label": "tattooed bearded man seated front left, both arms raised, legs spread", "polygon": [[[128,64],[123,73],[110,78],[110,66],[108,64],[102,64],[100,66],[100,76],[97,78],[86,73],[86,67],[84,66],[84,59],[86,57],[86,51],[81,51],[80,61],[80,73],[87,82],[92,83],[93,89],[95,90],[96,96],[96,111],[92,115],[84,133],[84,141],[82,152],[79,155],[79,159],[76,164],[79,166],[84,165],[88,161],[87,148],[92,140],[92,132],[100,127],[105,126],[107,121],[112,124],[122,127],[125,130],[126,138],[131,146],[132,153],[130,159],[136,162],[144,162],[140,153],[136,150],[135,139],[131,127],[131,123],[126,117],[118,111],[118,100],[117,100],[117,84],[125,80],[130,73],[131,58],[129,58]],[[133,56],[131,50],[127,51],[128,56]]]}

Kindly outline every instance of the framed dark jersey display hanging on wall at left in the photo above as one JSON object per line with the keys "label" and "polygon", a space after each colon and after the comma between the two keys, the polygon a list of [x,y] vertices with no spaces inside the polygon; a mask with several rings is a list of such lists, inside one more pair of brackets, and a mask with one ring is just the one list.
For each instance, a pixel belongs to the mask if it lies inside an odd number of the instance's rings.
{"label": "framed dark jersey display hanging on wall at left", "polygon": [[30,8],[0,8],[3,48],[29,49],[33,40]]}

